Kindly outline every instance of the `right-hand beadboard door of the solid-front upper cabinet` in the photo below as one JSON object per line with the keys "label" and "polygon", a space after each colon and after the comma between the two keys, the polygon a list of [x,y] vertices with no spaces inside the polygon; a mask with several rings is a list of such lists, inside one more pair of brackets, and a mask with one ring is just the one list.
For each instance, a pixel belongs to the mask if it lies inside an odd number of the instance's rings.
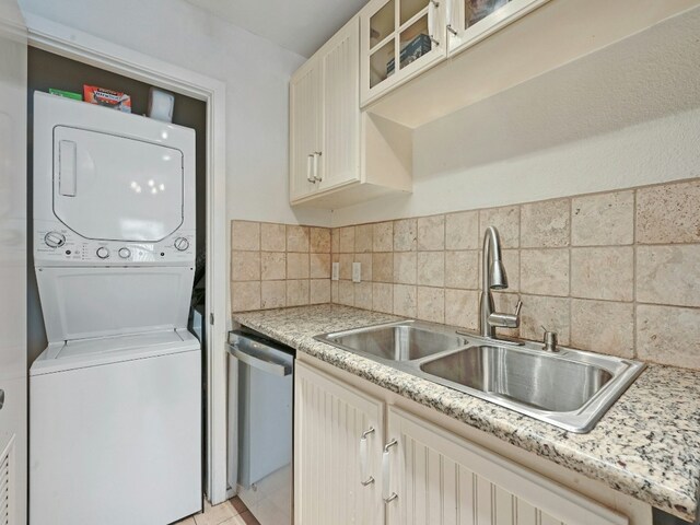
{"label": "right-hand beadboard door of the solid-front upper cabinet", "polygon": [[360,22],[353,19],[324,48],[324,149],[319,189],[360,178]]}

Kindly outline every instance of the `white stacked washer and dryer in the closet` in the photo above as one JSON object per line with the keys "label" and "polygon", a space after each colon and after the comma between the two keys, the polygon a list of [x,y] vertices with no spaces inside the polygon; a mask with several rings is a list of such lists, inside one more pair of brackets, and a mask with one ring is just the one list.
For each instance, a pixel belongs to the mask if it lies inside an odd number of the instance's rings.
{"label": "white stacked washer and dryer in the closet", "polygon": [[32,525],[201,510],[201,350],[187,331],[195,132],[34,95]]}

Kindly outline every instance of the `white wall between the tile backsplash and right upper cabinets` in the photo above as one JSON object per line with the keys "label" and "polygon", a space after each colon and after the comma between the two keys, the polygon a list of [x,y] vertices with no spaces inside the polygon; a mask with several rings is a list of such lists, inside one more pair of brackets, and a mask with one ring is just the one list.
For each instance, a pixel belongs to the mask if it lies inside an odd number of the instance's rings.
{"label": "white wall between the tile backsplash and right upper cabinets", "polygon": [[695,10],[416,129],[412,195],[332,225],[700,176],[698,27]]}

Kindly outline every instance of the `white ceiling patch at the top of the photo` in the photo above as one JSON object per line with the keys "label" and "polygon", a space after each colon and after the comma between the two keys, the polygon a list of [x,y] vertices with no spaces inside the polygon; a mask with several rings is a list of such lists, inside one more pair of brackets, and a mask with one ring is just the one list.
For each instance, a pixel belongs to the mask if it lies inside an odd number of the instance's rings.
{"label": "white ceiling patch at the top of the photo", "polygon": [[366,0],[187,0],[238,27],[311,57]]}

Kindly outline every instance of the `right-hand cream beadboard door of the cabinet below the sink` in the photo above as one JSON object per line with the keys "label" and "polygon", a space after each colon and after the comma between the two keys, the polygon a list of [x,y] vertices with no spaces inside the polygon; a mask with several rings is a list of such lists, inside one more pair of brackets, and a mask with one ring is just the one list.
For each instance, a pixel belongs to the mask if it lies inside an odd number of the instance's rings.
{"label": "right-hand cream beadboard door of the cabinet below the sink", "polygon": [[628,520],[492,452],[389,407],[392,525],[625,525]]}

